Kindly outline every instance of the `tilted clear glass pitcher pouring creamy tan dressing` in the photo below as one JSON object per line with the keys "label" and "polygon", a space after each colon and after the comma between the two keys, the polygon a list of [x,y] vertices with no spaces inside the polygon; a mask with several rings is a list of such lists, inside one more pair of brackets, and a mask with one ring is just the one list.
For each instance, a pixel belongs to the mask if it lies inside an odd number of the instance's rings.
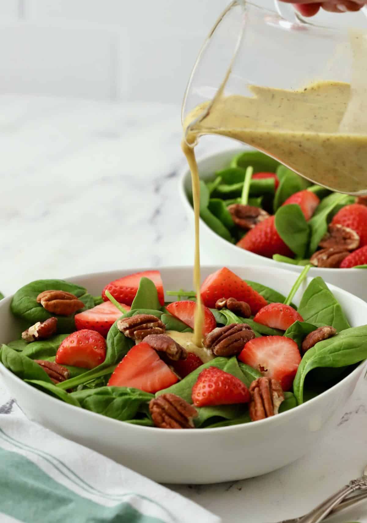
{"label": "tilted clear glass pitcher pouring creamy tan dressing", "polygon": [[232,137],[313,183],[366,195],[367,31],[278,10],[235,0],[222,13],[186,89],[186,135]]}

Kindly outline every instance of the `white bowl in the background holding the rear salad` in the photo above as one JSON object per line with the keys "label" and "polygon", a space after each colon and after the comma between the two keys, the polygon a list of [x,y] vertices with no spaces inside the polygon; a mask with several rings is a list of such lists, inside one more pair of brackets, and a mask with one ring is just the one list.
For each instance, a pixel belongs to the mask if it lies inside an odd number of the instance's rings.
{"label": "white bowl in the background holding the rear salad", "polygon": [[[200,178],[202,180],[213,179],[217,170],[224,169],[230,165],[232,158],[244,151],[254,150],[250,147],[241,149],[226,150],[224,152],[211,154],[198,161]],[[184,202],[187,215],[194,227],[194,213],[190,203],[191,175],[188,168],[182,170],[180,177],[180,193]],[[210,263],[222,265],[266,265],[269,267],[282,267],[283,269],[301,272],[303,267],[291,265],[280,261],[275,261],[265,256],[260,256],[224,240],[221,236],[213,232],[210,227],[200,220],[200,244],[205,259],[210,259]],[[364,269],[319,269],[311,268],[309,276],[321,276],[325,281],[338,285],[362,300],[367,300],[367,270]]]}

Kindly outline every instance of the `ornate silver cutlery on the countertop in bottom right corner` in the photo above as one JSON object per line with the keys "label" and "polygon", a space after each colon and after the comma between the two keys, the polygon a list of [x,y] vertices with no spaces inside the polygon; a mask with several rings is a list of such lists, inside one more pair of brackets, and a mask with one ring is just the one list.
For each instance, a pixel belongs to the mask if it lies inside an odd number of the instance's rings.
{"label": "ornate silver cutlery on the countertop in bottom right corner", "polygon": [[[365,491],[357,496],[346,499],[350,494],[356,491]],[[367,497],[367,465],[364,468],[363,474],[357,480],[352,480],[348,485],[343,486],[338,492],[329,496],[323,503],[320,503],[308,514],[294,519],[284,519],[278,523],[319,523],[323,521],[328,515],[339,512],[348,508],[354,503],[358,503]],[[344,501],[346,500],[346,501]]]}

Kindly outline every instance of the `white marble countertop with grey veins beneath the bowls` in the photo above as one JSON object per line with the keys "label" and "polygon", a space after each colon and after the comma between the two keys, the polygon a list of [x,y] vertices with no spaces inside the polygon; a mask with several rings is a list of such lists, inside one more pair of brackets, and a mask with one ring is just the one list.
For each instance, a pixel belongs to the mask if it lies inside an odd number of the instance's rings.
{"label": "white marble countertop with grey veins beneath the bowls", "polygon": [[[38,278],[192,264],[178,192],[185,166],[179,107],[7,95],[0,97],[0,134],[4,294]],[[233,143],[208,138],[199,154],[227,146]],[[210,263],[205,253],[202,263]],[[225,523],[305,513],[367,463],[365,385],[359,382],[319,446],[288,467],[244,481],[170,487]],[[3,413],[17,410],[1,383],[0,405]],[[367,523],[367,502],[330,521]]]}

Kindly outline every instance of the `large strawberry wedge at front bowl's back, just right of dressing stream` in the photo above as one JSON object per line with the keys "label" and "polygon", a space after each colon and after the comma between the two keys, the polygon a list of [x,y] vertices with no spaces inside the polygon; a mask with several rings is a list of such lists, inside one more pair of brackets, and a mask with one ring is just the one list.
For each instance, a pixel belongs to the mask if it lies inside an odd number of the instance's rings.
{"label": "large strawberry wedge at front bowl's back, just right of dressing stream", "polygon": [[223,267],[205,278],[200,293],[204,305],[212,309],[215,307],[216,300],[220,298],[236,298],[238,301],[245,301],[249,304],[252,314],[256,314],[268,303],[261,294],[227,267]]}

